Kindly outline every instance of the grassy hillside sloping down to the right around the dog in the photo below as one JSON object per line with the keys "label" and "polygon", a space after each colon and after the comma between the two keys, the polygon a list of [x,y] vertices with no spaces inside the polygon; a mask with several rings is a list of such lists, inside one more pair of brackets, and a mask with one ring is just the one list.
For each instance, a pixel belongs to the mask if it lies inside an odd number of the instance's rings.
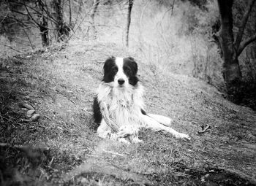
{"label": "grassy hillside sloping down to the right around the dog", "polygon": [[[99,139],[91,104],[110,55],[137,59],[148,112],[172,117],[190,142],[150,130],[140,144]],[[256,113],[116,44],[73,42],[2,59],[0,85],[1,185],[256,185]]]}

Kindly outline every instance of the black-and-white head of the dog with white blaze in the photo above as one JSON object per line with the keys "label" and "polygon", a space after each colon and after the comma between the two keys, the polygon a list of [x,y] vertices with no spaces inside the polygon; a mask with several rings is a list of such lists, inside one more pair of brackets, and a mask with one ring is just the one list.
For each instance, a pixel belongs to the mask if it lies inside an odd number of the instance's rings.
{"label": "black-and-white head of the dog with white blaze", "polygon": [[127,88],[138,83],[138,65],[135,60],[129,58],[111,57],[105,61],[103,81],[110,83],[115,88]]}

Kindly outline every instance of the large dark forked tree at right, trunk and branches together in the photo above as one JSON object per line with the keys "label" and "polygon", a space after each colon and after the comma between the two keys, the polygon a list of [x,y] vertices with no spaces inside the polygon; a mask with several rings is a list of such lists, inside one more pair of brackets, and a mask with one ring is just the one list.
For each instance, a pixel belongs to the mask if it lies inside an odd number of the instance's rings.
{"label": "large dark forked tree at right, trunk and branches together", "polygon": [[241,82],[241,69],[238,62],[238,56],[244,48],[251,42],[256,40],[256,34],[250,36],[242,41],[244,28],[249,18],[249,13],[252,10],[256,0],[249,2],[244,12],[244,17],[238,27],[236,39],[233,33],[233,15],[232,7],[233,0],[218,0],[220,13],[220,30],[215,35],[219,48],[221,49],[223,64],[224,79],[227,84],[227,89],[233,88]]}

